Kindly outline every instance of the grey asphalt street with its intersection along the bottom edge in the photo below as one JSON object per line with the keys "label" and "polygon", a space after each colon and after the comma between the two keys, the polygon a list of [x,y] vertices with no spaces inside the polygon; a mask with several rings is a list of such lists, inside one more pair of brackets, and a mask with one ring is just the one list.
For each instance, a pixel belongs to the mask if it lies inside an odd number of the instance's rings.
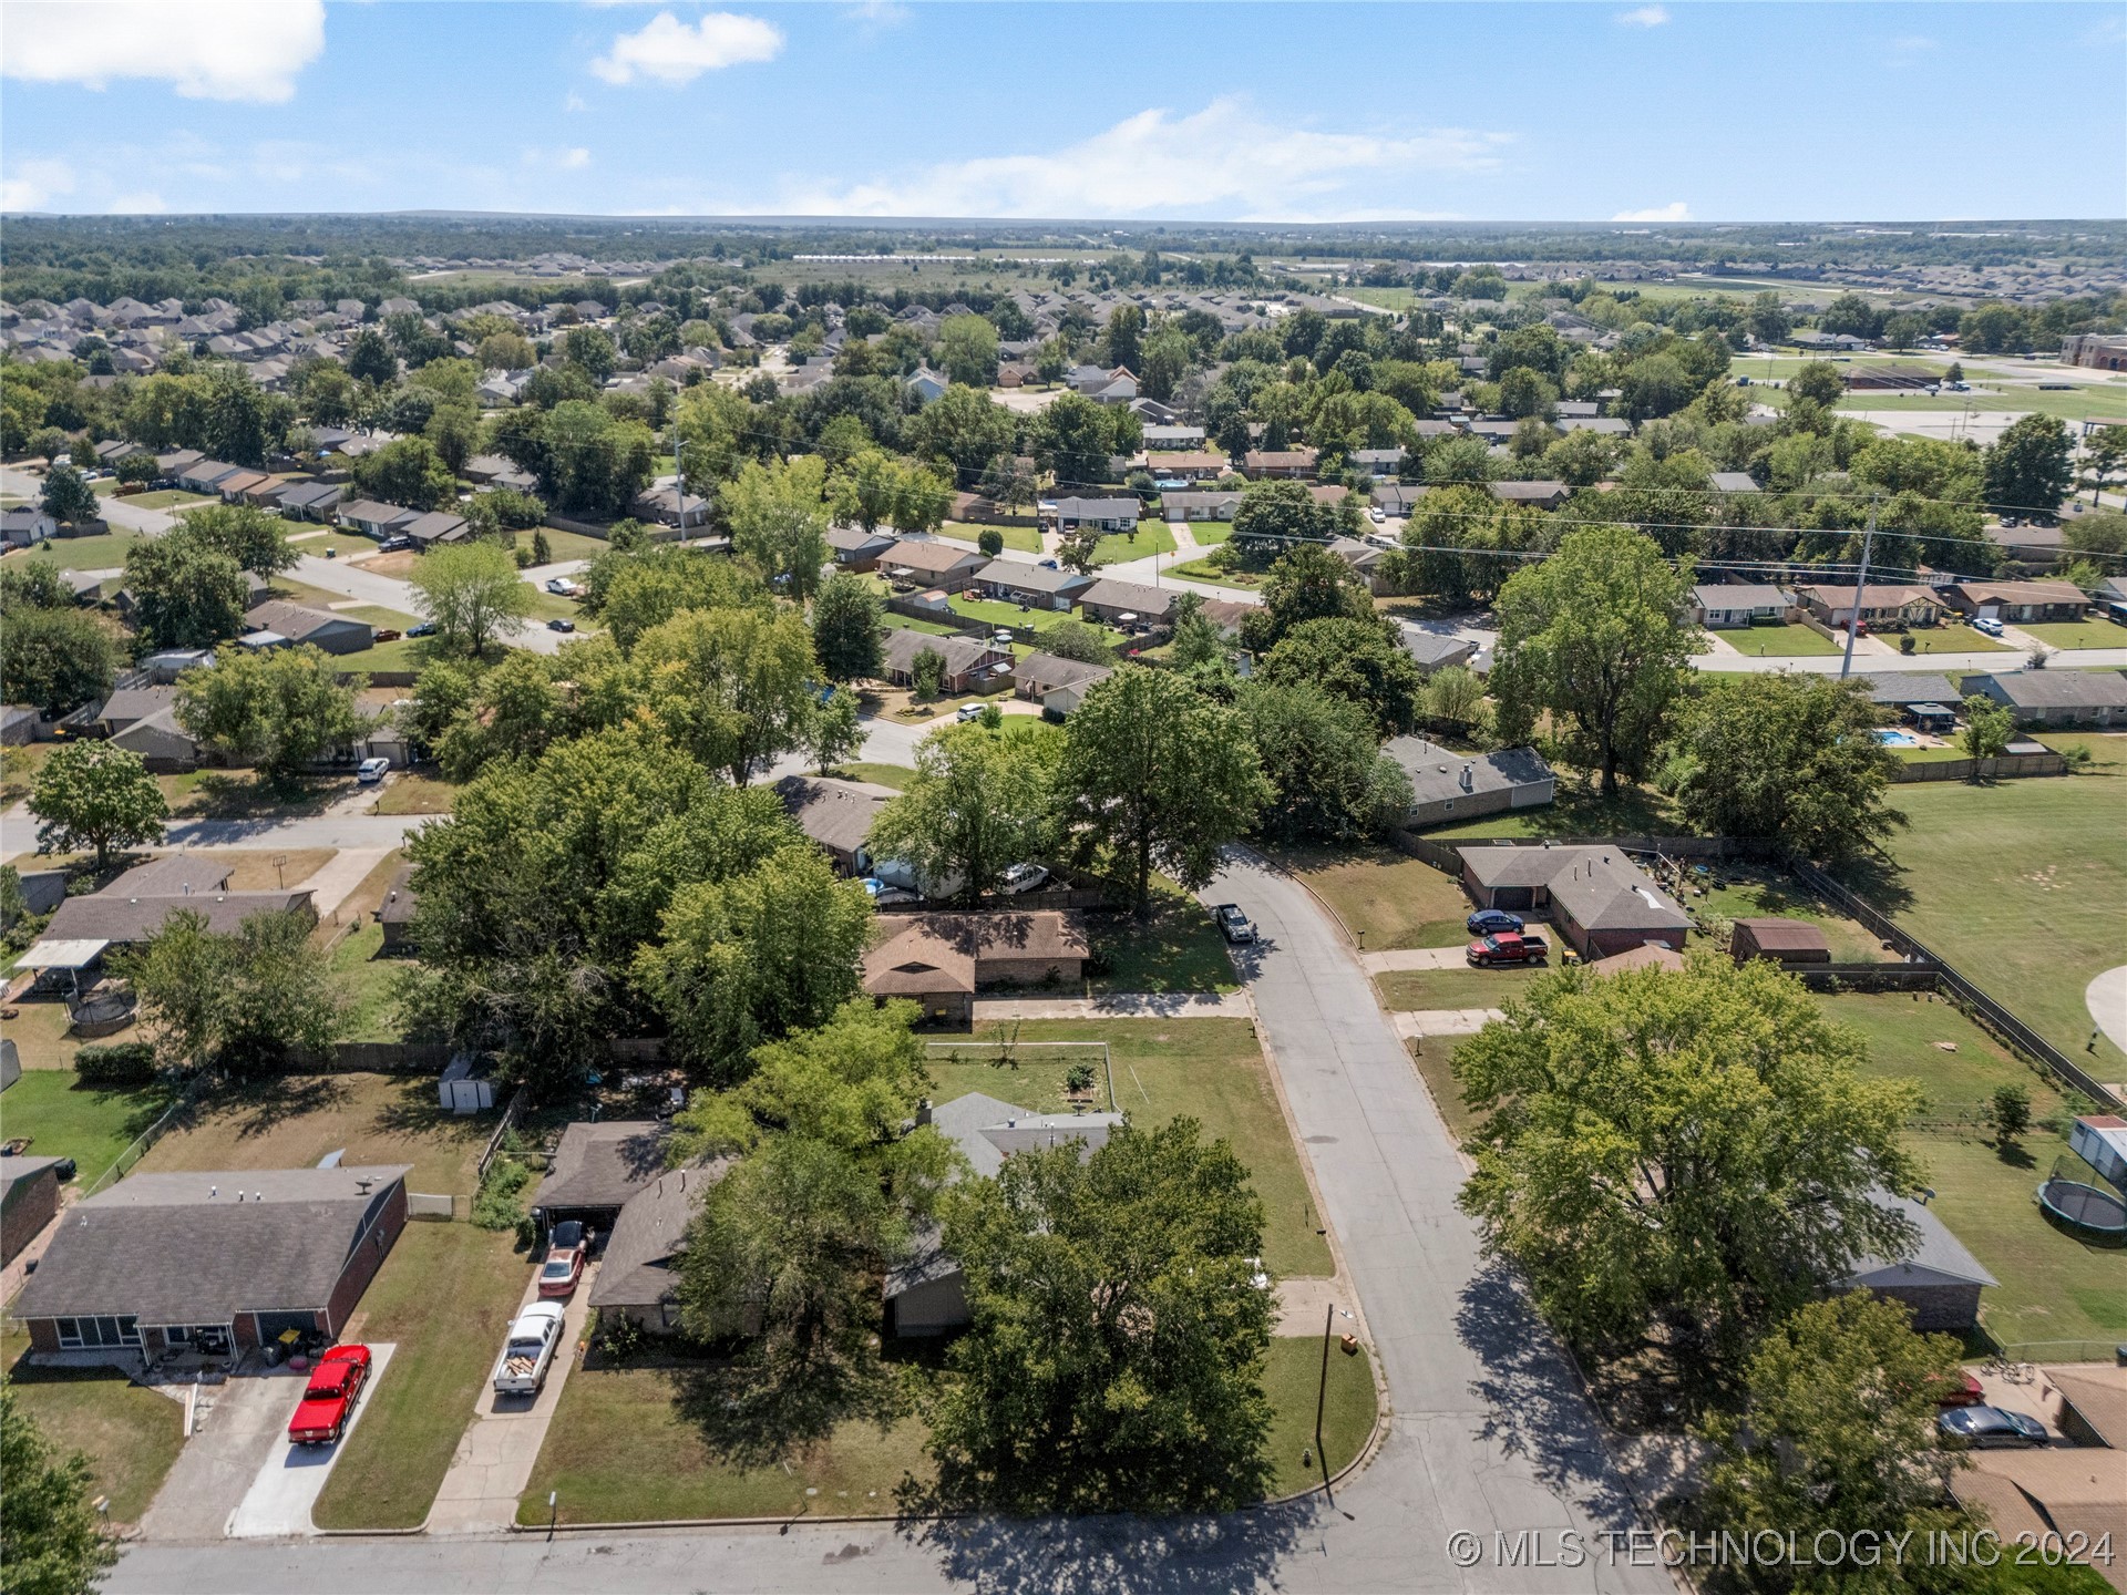
{"label": "grey asphalt street with its intersection along the bottom edge", "polygon": [[[1314,1161],[1389,1382],[1389,1435],[1338,1493],[1221,1521],[961,1523],[627,1535],[138,1544],[115,1595],[428,1595],[430,1591],[1123,1591],[1278,1589],[1665,1595],[1659,1567],[1608,1550],[1534,1565],[1561,1533],[1604,1546],[1634,1527],[1572,1370],[1519,1287],[1455,1210],[1461,1159],[1336,927],[1297,880],[1249,855],[1204,893],[1261,927],[1249,959],[1261,1031]],[[1478,1535],[1459,1567],[1453,1531]],[[1500,1540],[1523,1546],[1504,1565]],[[1521,1538],[1527,1535],[1527,1538]]]}

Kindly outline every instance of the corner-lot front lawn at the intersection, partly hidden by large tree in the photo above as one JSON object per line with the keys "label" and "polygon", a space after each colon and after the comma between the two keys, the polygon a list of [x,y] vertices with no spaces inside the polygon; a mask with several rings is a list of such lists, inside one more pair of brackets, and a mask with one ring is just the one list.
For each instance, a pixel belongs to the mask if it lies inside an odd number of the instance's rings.
{"label": "corner-lot front lawn at the intersection, partly hidden by large tree", "polygon": [[[938,1378],[942,1374],[915,1372],[919,1389]],[[1263,1393],[1274,1408],[1268,1438],[1274,1467],[1270,1495],[1287,1495],[1321,1480],[1319,1467],[1304,1467],[1300,1461],[1314,1444],[1319,1382],[1319,1340],[1270,1342],[1263,1367]],[[932,1476],[923,1453],[927,1429],[915,1416],[885,1431],[872,1423],[844,1423],[789,1467],[736,1467],[719,1461],[704,1444],[702,1429],[683,1416],[683,1387],[685,1374],[668,1370],[572,1372],[517,1521],[534,1527],[545,1523],[549,1491],[559,1497],[562,1523],[891,1514],[893,1487],[904,1476]],[[1372,1431],[1374,1376],[1368,1357],[1363,1350],[1357,1357],[1332,1350],[1323,1404],[1329,1472],[1357,1457]]]}

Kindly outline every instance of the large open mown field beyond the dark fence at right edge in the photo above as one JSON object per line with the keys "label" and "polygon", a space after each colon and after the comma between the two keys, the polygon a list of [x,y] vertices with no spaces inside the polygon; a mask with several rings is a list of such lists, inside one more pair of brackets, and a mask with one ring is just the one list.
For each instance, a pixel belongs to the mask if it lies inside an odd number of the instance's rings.
{"label": "large open mown field beyond the dark fence at right edge", "polygon": [[2084,1051],[2082,989],[2127,948],[2127,736],[2048,740],[2091,749],[2091,772],[1899,787],[1912,825],[1891,840],[1897,870],[1857,885],[2099,1080],[2121,1080],[2127,1057],[2110,1040]]}

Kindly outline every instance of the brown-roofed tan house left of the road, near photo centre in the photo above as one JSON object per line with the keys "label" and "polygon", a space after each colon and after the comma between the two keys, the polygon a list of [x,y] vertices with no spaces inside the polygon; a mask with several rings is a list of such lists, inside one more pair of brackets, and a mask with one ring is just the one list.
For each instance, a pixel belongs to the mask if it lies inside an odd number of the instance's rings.
{"label": "brown-roofed tan house left of the road, near photo centre", "polygon": [[1057,910],[902,914],[902,929],[864,955],[864,989],[908,997],[925,1019],[968,1023],[987,985],[1076,985],[1085,927]]}

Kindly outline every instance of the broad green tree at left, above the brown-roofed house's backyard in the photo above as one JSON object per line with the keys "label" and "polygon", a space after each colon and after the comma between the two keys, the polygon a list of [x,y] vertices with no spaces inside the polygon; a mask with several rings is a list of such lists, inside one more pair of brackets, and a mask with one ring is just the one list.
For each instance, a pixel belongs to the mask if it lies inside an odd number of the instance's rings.
{"label": "broad green tree at left, above the brown-roofed house's backyard", "polygon": [[323,1053],[347,1029],[332,957],[311,919],[259,912],[215,934],[181,910],[119,959],[140,997],[140,1029],[166,1068],[257,1076]]}

